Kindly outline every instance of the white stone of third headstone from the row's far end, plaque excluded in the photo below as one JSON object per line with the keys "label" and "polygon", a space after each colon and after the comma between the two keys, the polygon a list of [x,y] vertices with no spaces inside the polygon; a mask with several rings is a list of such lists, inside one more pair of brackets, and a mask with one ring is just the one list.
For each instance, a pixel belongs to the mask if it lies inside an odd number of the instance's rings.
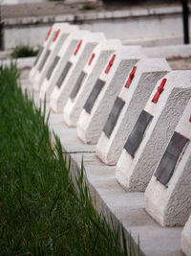
{"label": "white stone of third headstone from the row's far end, plaque excluded", "polygon": [[60,51],[57,54],[57,57],[59,57],[60,59],[58,60],[57,65],[53,69],[51,78],[48,80],[47,77],[45,77],[42,82],[42,86],[40,88],[41,100],[45,100],[46,97],[46,101],[50,101],[50,97],[56,85],[56,82],[58,81],[64,68],[66,67],[67,62],[73,56],[74,50],[79,40],[84,39],[87,35],[89,35],[88,31],[76,30],[67,37]]}

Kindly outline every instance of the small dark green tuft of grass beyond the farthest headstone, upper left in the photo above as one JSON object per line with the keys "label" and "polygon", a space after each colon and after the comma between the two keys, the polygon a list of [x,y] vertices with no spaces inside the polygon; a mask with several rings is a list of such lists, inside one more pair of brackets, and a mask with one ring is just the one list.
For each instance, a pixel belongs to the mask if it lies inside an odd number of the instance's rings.
{"label": "small dark green tuft of grass beyond the farthest headstone, upper left", "polygon": [[27,58],[37,56],[38,50],[29,45],[20,45],[12,49],[11,58]]}

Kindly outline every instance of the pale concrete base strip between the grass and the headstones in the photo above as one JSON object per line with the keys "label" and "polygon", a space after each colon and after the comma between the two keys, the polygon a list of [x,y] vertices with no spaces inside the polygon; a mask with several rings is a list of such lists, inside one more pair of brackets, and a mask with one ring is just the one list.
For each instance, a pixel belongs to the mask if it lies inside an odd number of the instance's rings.
{"label": "pale concrete base strip between the grass and the headstones", "polygon": [[[30,87],[28,86],[30,91]],[[39,104],[38,94],[34,95],[35,104]],[[49,110],[49,105],[47,105]],[[60,138],[63,155],[71,157],[71,172],[80,169],[83,157],[86,170],[86,182],[96,209],[104,216],[112,216],[122,221],[126,234],[132,235],[135,247],[140,241],[140,251],[150,256],[182,256],[180,251],[180,227],[162,228],[144,211],[143,193],[126,193],[117,183],[115,167],[101,163],[95,154],[95,146],[84,145],[76,138],[75,128],[67,128],[62,116],[51,113],[50,130]],[[67,152],[70,152],[67,153]]]}

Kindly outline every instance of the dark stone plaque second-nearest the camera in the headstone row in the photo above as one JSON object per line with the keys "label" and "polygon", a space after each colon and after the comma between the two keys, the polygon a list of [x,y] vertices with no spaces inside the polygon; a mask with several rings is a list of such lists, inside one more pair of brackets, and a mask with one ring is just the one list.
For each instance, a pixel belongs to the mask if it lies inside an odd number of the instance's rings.
{"label": "dark stone plaque second-nearest the camera in the headstone row", "polygon": [[135,157],[135,153],[138,151],[138,147],[143,139],[144,132],[152,118],[153,116],[144,110],[140,113],[138,121],[124,146],[124,149],[128,151],[132,157]]}

